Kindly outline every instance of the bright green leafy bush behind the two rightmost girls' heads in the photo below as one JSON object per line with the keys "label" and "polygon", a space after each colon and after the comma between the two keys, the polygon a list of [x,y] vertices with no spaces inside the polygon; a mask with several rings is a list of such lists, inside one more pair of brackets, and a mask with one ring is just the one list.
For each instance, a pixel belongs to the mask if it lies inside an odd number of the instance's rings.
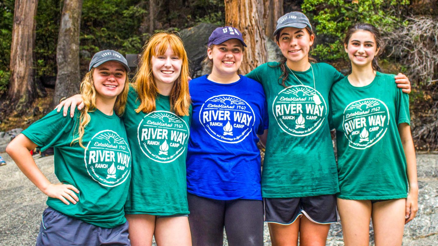
{"label": "bright green leafy bush behind the two rightmost girls' heads", "polygon": [[406,24],[402,15],[409,0],[304,0],[301,8],[315,24],[314,31],[331,42],[316,45],[312,55],[322,60],[345,58],[343,38],[348,27],[359,22],[392,31]]}

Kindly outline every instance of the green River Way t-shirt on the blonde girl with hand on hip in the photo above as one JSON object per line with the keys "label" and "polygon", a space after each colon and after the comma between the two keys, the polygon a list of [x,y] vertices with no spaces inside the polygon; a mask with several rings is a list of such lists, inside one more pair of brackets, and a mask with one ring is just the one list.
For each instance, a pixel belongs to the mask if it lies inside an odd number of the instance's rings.
{"label": "green River Way t-shirt on the blonde girl with hand on hip", "polygon": [[47,205],[65,215],[90,224],[113,228],[126,222],[123,206],[131,180],[131,151],[125,127],[114,113],[89,112],[82,143],[77,137],[80,111],[74,118],[52,111],[30,125],[23,133],[41,147],[54,147],[55,174],[60,182],[79,190],[76,204],[64,204],[49,197]]}

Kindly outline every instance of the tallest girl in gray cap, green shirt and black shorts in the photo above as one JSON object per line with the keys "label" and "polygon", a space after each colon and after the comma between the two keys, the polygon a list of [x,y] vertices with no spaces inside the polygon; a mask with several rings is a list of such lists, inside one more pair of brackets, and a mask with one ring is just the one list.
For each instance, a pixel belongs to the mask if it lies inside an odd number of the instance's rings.
{"label": "tallest girl in gray cap, green shirt and black shorts", "polygon": [[[322,246],[338,221],[329,91],[344,76],[309,57],[315,35],[303,13],[280,17],[274,36],[283,59],[247,74],[262,83],[270,108],[261,179],[265,221],[273,245],[296,245],[299,236],[300,245]],[[404,75],[396,79],[409,83]]]}

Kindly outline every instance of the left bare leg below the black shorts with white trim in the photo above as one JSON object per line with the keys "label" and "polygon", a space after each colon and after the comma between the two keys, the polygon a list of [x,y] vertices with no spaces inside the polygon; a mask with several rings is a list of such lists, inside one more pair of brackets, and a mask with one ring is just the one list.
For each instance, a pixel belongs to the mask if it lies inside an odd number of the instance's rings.
{"label": "left bare leg below the black shorts with white trim", "polygon": [[268,223],[272,246],[297,246],[300,219],[290,225]]}

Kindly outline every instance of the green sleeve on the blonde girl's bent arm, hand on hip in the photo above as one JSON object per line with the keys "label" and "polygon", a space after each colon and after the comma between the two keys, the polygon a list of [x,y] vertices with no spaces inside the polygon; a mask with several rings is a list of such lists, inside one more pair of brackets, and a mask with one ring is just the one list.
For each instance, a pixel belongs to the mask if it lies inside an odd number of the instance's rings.
{"label": "green sleeve on the blonde girl's bent arm, hand on hip", "polygon": [[78,127],[75,123],[79,122],[80,115],[81,112],[76,110],[74,118],[64,117],[62,113],[53,110],[21,133],[39,146],[41,151],[45,151],[49,147],[65,146],[73,140],[74,131],[72,129]]}

